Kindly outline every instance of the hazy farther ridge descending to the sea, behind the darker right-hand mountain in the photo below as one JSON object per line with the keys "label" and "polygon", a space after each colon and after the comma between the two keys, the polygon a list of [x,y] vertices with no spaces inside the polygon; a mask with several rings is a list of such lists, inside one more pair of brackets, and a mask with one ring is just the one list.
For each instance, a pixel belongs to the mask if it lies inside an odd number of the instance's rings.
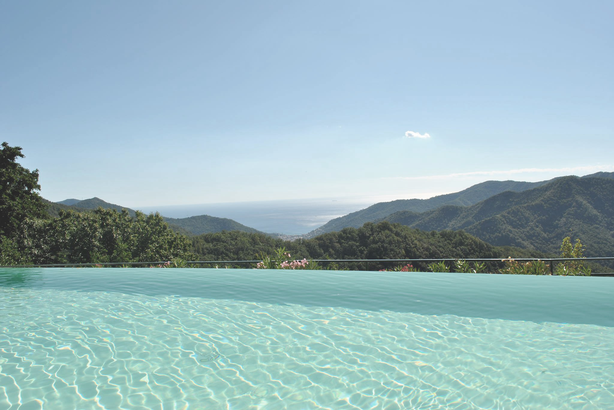
{"label": "hazy farther ridge descending to the sea, behind the darker right-hand mountain", "polygon": [[346,227],[361,227],[365,222],[373,222],[398,211],[424,212],[444,205],[473,205],[504,191],[521,192],[536,188],[550,181],[486,181],[470,186],[467,189],[452,194],[444,194],[429,199],[397,199],[391,202],[378,202],[360,211],[332,219],[321,227],[303,235],[303,238],[313,238],[322,233],[334,232]]}

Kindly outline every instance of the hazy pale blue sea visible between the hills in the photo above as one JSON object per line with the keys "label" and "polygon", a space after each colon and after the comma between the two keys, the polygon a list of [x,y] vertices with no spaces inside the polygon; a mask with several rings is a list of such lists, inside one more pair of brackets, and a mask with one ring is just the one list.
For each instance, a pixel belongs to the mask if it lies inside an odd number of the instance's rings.
{"label": "hazy pale blue sea visible between the hills", "polygon": [[267,233],[303,235],[331,219],[359,211],[377,202],[399,199],[388,196],[284,199],[251,202],[199,203],[136,207],[168,218],[210,215],[229,218]]}

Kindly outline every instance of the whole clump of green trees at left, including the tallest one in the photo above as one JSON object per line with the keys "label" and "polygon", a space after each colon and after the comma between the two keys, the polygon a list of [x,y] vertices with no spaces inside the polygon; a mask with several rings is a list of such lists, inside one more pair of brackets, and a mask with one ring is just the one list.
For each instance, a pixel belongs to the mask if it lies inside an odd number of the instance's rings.
{"label": "whole clump of green trees at left, including the tallest one", "polygon": [[192,244],[160,214],[56,209],[38,194],[38,170],[21,166],[20,146],[0,150],[0,265],[159,262],[192,259]]}

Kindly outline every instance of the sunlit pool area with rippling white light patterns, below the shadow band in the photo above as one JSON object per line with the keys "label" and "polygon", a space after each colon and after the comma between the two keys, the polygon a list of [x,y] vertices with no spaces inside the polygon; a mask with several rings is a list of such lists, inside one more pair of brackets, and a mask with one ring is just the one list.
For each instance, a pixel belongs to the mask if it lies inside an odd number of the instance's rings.
{"label": "sunlit pool area with rippling white light patterns, below the shadow band", "polygon": [[614,408],[614,328],[0,288],[0,409]]}

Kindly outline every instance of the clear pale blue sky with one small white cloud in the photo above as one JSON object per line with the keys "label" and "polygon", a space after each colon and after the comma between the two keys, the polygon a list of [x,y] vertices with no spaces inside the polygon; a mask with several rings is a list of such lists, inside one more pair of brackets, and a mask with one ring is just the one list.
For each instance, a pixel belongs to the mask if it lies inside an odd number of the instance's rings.
{"label": "clear pale blue sky with one small white cloud", "polygon": [[4,1],[43,197],[430,197],[614,171],[611,1]]}

